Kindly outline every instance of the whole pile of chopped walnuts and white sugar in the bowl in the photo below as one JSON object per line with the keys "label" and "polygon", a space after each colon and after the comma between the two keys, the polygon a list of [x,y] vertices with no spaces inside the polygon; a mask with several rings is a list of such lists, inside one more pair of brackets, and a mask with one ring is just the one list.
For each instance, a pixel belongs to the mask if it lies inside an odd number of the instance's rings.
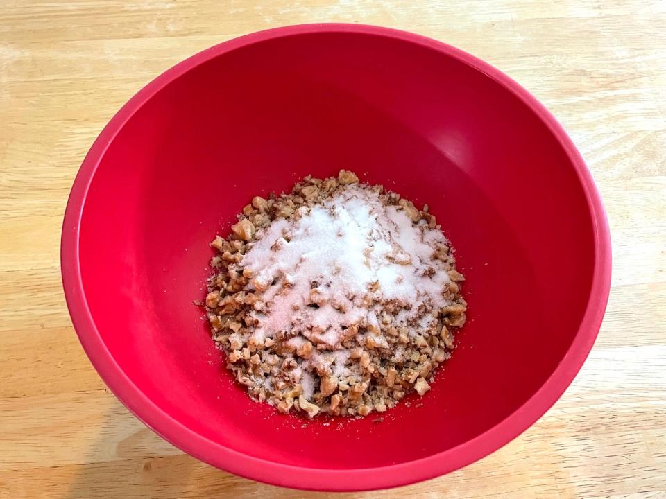
{"label": "whole pile of chopped walnuts and white sugar in the bowl", "polygon": [[213,339],[280,412],[367,416],[422,396],[466,320],[434,216],[352,172],[253,198],[212,246]]}

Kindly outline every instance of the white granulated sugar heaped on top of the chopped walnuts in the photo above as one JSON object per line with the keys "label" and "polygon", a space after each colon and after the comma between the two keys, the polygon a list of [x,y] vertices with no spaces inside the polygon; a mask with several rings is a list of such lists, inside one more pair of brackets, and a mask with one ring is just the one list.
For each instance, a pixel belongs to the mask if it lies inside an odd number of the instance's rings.
{"label": "white granulated sugar heaped on top of the chopped walnuts", "polygon": [[[256,277],[248,289],[266,288],[256,335],[291,330],[339,347],[352,324],[378,326],[364,303],[368,293],[375,301],[411,305],[404,323],[421,304],[445,304],[449,277],[432,262],[434,244],[446,243],[441,231],[415,225],[402,209],[359,186],[301,210],[300,220],[275,220],[241,261]],[[370,292],[374,283],[378,289]]]}

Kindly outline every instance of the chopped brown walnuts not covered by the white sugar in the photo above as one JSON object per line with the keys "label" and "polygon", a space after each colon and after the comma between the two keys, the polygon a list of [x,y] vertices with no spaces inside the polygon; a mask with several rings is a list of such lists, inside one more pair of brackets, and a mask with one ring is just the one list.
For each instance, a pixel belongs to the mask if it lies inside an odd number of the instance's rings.
{"label": "chopped brown walnuts not covered by the white sugar", "polygon": [[[273,279],[261,269],[244,265],[248,252],[275,220],[301,220],[336,193],[368,189],[377,193],[385,206],[404,212],[413,227],[439,229],[427,205],[420,211],[382,186],[355,184],[359,184],[355,173],[340,170],[336,178],[305,177],[288,194],[255,196],[242,209],[230,236],[216,236],[211,243],[216,249],[210,261],[215,275],[208,281],[205,307],[213,340],[225,352],[227,368],[248,394],[271,403],[283,414],[302,411],[310,418],[321,413],[365,417],[393,408],[410,392],[424,395],[430,389],[427,380],[432,381],[438,366],[454,349],[454,331],[466,321],[467,304],[460,293],[465,278],[455,268],[454,250],[448,243],[438,242],[432,244],[431,261],[426,268],[420,267],[418,275],[433,278],[437,272],[447,274],[441,295],[445,305],[440,309],[423,305],[417,309],[404,300],[386,300],[379,281],[368,283],[359,295],[345,297],[334,292],[330,277],[329,281],[316,278],[308,282],[302,301],[291,304],[296,317],[291,329],[259,334],[260,318],[270,313],[275,296],[298,286],[298,274],[293,272],[284,271]],[[290,230],[283,231],[283,238],[275,241],[271,251],[280,251],[291,241]],[[388,261],[408,267],[406,270],[418,263],[400,247],[391,248]],[[366,243],[359,251],[369,268],[371,259],[376,258],[376,247]],[[335,266],[331,275],[343,270]],[[275,286],[281,286],[278,295]],[[326,313],[344,315],[355,307],[367,308],[368,313],[372,310],[373,319],[368,315],[344,324],[335,341],[330,340],[331,331],[298,322],[304,310],[312,313],[324,308]],[[399,318],[403,310],[416,310],[416,319],[404,322]]]}

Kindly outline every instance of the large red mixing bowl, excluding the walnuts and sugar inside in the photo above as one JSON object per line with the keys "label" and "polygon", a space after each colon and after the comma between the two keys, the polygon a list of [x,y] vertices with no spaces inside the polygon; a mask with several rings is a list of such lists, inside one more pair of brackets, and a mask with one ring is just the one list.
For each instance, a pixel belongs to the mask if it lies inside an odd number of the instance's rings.
{"label": "large red mixing bowl, excluding the walnuts and sugar inside", "polygon": [[[380,423],[250,401],[192,304],[251,196],[341,168],[429,204],[467,277],[458,349]],[[171,443],[272,484],[379,489],[484,457],[561,396],[604,315],[610,238],[572,141],[497,69],[396,30],[290,26],[198,53],[122,107],[71,190],[62,279],[93,365]]]}

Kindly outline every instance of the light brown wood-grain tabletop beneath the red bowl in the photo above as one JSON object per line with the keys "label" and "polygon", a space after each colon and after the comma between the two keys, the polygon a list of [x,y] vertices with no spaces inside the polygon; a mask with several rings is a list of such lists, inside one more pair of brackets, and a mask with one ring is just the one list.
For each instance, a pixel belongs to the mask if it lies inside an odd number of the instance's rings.
{"label": "light brown wood-grain tabletop beneath the red bowl", "polygon": [[62,214],[112,114],[171,65],[255,30],[380,24],[502,69],[563,123],[599,185],[613,288],[545,417],[466,469],[346,497],[666,497],[666,2],[0,1],[0,498],[300,498],[184,455],[105,389],[60,286]]}

